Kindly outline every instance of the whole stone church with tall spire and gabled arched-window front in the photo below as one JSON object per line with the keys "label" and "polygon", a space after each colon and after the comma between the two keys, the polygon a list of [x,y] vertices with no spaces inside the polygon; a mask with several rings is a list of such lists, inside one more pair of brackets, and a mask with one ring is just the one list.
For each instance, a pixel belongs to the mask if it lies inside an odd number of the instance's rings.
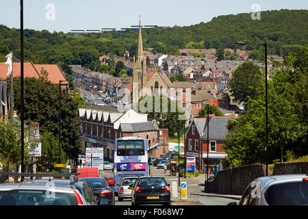
{"label": "whole stone church with tall spire and gabled arched-window front", "polygon": [[145,95],[166,94],[170,88],[173,88],[172,82],[167,75],[159,69],[152,70],[147,74],[146,56],[143,52],[141,23],[139,21],[138,48],[136,57],[133,57],[133,78],[132,78],[131,101],[136,105]]}

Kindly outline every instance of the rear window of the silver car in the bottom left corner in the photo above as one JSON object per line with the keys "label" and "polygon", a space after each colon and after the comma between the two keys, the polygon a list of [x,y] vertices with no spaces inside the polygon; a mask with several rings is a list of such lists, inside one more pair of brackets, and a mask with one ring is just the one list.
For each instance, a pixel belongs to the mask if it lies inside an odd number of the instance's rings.
{"label": "rear window of the silver car in the bottom left corner", "polygon": [[74,193],[47,190],[0,191],[0,205],[77,205]]}

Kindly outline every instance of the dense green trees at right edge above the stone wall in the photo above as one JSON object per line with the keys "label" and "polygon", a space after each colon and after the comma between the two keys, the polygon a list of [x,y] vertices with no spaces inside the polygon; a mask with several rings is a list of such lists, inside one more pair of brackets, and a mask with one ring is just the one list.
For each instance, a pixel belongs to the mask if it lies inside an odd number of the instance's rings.
{"label": "dense green trees at right edge above the stone wall", "polygon": [[[277,69],[268,81],[268,161],[284,161],[286,151],[300,157],[308,154],[308,46],[287,58],[287,67]],[[233,166],[265,163],[265,85],[249,98],[246,112],[228,124],[224,149]]]}

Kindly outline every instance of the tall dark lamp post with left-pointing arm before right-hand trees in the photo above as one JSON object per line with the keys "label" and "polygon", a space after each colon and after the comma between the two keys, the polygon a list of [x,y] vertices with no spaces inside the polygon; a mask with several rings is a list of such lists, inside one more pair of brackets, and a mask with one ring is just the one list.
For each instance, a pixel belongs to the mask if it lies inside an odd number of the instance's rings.
{"label": "tall dark lamp post with left-pointing arm before right-hand trees", "polygon": [[268,45],[266,43],[246,43],[246,42],[235,42],[235,44],[245,45],[245,44],[253,44],[253,45],[262,45],[264,46],[264,56],[265,56],[265,77],[266,77],[266,176],[268,176]]}

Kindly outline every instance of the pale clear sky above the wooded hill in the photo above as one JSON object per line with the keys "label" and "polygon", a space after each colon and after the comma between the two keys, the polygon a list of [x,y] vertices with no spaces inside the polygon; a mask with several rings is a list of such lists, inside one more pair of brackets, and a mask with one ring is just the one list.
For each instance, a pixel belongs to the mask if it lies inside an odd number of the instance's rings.
{"label": "pale clear sky above the wooded hill", "polygon": [[[3,0],[2,0],[3,1]],[[0,24],[20,28],[20,0],[1,2]],[[138,25],[190,26],[227,14],[308,10],[307,0],[24,0],[24,29],[67,33]],[[262,16],[262,14],[261,14]]]}

